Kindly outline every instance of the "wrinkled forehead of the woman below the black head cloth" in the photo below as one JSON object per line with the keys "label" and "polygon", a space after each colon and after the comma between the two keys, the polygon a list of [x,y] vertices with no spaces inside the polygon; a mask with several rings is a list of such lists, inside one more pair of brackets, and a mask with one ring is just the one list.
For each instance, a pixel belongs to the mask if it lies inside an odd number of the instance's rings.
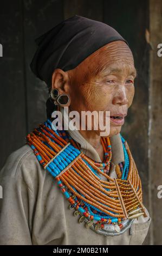
{"label": "wrinkled forehead of the woman below the black head cloth", "polygon": [[123,41],[114,41],[99,48],[72,70],[73,76],[82,81],[117,72],[134,77],[137,75],[132,51]]}

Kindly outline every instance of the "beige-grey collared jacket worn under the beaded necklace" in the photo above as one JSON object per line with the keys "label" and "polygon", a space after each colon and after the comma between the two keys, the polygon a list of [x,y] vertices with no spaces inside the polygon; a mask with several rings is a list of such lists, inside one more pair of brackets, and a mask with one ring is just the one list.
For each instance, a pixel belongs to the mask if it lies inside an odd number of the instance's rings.
{"label": "beige-grey collared jacket worn under the beaded necklace", "polygon": [[[81,150],[96,161],[100,157],[78,131],[70,135],[81,144]],[[124,161],[121,138],[111,137],[115,164]],[[131,233],[110,237],[96,234],[79,223],[69,209],[60,187],[37,161],[29,145],[12,153],[0,172],[3,199],[0,199],[1,245],[141,245],[147,235],[151,218],[138,218]]]}

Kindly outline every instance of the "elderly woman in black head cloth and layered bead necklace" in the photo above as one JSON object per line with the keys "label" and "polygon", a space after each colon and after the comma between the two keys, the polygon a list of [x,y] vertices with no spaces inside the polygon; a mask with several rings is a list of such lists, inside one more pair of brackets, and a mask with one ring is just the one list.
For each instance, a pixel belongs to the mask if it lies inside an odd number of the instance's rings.
{"label": "elderly woman in black head cloth and layered bead necklace", "polygon": [[[31,69],[48,85],[48,120],[1,171],[1,244],[141,245],[151,218],[120,134],[136,76],[128,43],[105,23],[78,15],[36,42]],[[88,130],[87,121],[86,129],[67,130],[70,117],[59,129],[54,114],[64,116],[64,107],[80,119],[82,111],[109,111],[109,134],[101,136],[94,123]]]}

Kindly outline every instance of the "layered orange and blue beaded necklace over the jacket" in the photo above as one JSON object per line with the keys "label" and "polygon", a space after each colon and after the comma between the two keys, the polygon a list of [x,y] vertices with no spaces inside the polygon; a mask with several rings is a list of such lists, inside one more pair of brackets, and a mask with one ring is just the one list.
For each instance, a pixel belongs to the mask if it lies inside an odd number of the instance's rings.
{"label": "layered orange and blue beaded necklace over the jacket", "polygon": [[105,158],[99,163],[83,154],[67,131],[53,130],[49,119],[27,135],[37,160],[55,178],[69,209],[80,217],[79,223],[85,222],[102,235],[120,235],[134,218],[147,216],[137,167],[122,136],[121,141],[125,161],[115,166],[118,178],[112,179],[108,175],[112,160],[108,137],[101,138]]}

